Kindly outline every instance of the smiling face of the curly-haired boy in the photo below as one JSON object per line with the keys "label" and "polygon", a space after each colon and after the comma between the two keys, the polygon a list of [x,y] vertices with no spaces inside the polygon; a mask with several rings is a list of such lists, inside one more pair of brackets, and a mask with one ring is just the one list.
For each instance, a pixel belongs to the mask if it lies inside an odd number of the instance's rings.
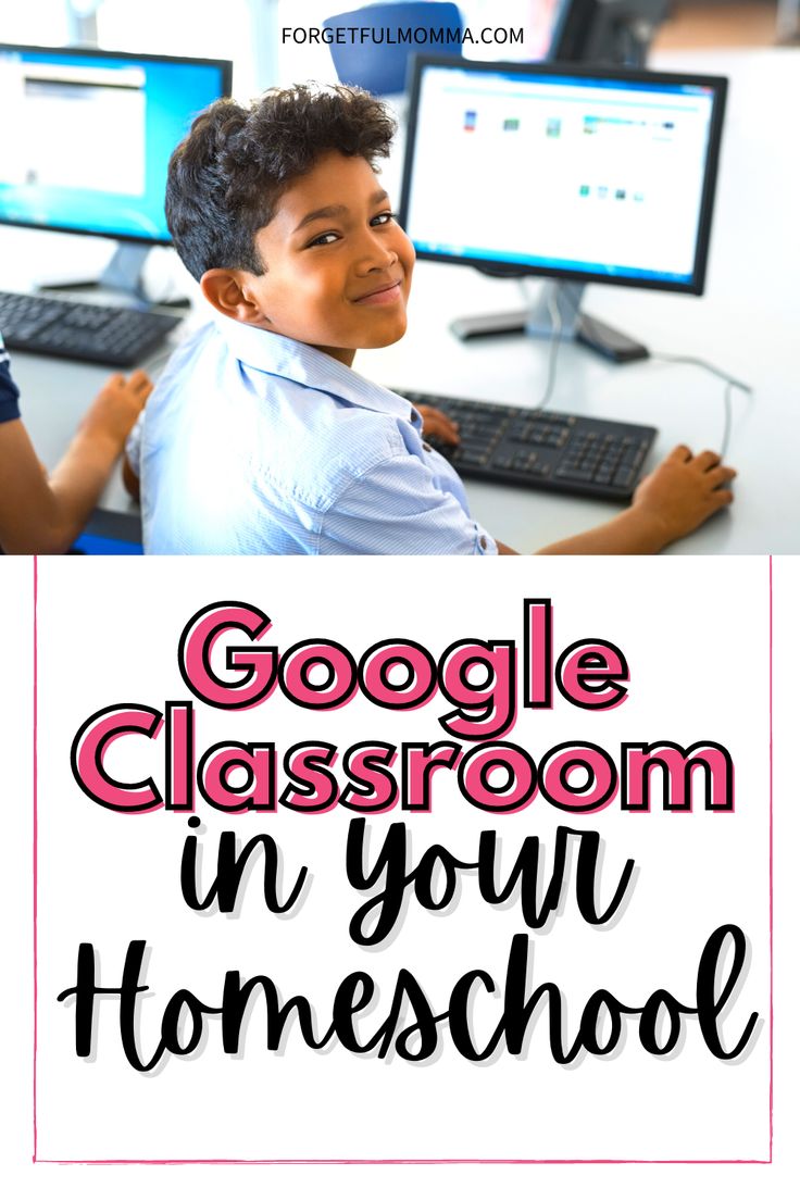
{"label": "smiling face of the curly-haired boy", "polygon": [[348,366],[405,332],[414,247],[365,158],[325,155],[255,235],[266,268],[248,275],[257,324]]}

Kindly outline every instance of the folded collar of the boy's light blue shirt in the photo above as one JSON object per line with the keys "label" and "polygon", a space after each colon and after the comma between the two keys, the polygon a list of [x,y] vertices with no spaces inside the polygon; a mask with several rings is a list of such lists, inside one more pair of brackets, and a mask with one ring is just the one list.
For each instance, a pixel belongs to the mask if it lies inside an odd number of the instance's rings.
{"label": "folded collar of the boy's light blue shirt", "polygon": [[365,379],[357,371],[344,366],[324,350],[221,314],[215,319],[228,348],[246,366],[282,379],[291,379],[303,388],[324,391],[335,400],[344,400],[359,408],[420,424],[419,413],[410,401]]}

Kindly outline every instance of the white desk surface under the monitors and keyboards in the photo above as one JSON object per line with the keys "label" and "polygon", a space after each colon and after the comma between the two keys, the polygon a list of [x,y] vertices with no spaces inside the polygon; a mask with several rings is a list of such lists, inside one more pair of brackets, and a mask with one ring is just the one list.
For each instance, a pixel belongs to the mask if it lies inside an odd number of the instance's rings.
{"label": "white desk surface under the monitors and keyboards", "polygon": [[[652,64],[730,77],[703,298],[631,288],[590,287],[584,307],[654,350],[699,355],[756,389],[734,394],[729,460],[739,469],[730,512],[673,547],[678,553],[800,553],[800,49],[662,55]],[[385,170],[390,191],[395,167]],[[0,262],[22,235],[2,230]],[[43,236],[43,235],[41,235]],[[5,250],[5,252],[4,252]],[[13,287],[4,272],[4,286]],[[409,332],[395,347],[361,352],[356,368],[389,385],[497,398],[534,407],[545,386],[547,343],[525,337],[458,342],[453,316],[517,307],[519,290],[458,266],[419,263]],[[146,364],[145,364],[146,365]],[[102,367],[13,356],[25,420],[52,463],[77,416],[106,377]],[[678,442],[717,448],[723,385],[688,366],[657,361],[613,366],[565,344],[554,409],[656,425],[654,461]],[[468,486],[473,512],[519,551],[606,520],[614,506],[547,492]],[[104,506],[134,511],[114,480]]]}

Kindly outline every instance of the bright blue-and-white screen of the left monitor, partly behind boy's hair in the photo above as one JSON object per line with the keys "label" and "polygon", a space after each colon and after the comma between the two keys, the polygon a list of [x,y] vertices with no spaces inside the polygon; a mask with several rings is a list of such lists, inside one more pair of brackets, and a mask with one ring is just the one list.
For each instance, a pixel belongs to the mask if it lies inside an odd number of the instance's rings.
{"label": "bright blue-and-white screen of the left monitor, partly behind boy's hair", "polygon": [[227,61],[0,44],[0,221],[168,244],[169,156]]}

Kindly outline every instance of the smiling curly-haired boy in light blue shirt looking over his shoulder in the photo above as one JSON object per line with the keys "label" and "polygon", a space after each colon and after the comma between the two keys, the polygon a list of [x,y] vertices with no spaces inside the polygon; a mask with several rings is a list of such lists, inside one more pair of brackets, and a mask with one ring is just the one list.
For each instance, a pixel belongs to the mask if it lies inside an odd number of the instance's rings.
{"label": "smiling curly-haired boy in light blue shirt looking over his shoulder", "polygon": [[[173,155],[167,220],[217,311],[174,355],[128,450],[156,553],[515,553],[469,516],[425,433],[447,419],[351,370],[405,331],[414,248],[374,173],[393,122],[355,89],[218,101]],[[732,499],[679,446],[631,508],[549,553],[651,553]]]}

